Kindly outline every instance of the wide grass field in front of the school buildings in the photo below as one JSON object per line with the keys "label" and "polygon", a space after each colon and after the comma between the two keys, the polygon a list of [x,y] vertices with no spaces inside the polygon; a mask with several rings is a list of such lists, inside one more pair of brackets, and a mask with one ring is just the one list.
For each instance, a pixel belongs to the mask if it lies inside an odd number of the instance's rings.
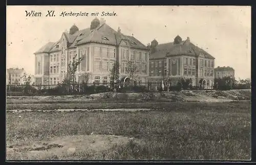
{"label": "wide grass field in front of the school buildings", "polygon": [[[53,108],[52,108],[53,107]],[[7,112],[7,145],[67,135],[134,137],[98,151],[7,159],[218,159],[251,155],[251,102],[8,104],[7,109],[152,108],[153,111]]]}

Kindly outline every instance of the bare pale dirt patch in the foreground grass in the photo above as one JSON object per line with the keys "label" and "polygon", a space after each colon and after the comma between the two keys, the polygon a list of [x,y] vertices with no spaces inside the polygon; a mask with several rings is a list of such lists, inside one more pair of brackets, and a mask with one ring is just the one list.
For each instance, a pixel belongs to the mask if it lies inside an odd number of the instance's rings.
{"label": "bare pale dirt patch in the foreground grass", "polygon": [[99,152],[113,145],[126,144],[129,137],[116,135],[74,135],[51,139],[30,139],[22,144],[8,144],[7,159],[65,159],[81,153]]}

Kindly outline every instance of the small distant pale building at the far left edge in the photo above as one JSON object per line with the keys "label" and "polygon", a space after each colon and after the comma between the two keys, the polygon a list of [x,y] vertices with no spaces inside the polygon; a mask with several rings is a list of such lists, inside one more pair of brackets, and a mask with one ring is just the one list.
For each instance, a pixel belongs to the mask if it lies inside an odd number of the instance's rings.
{"label": "small distant pale building at the far left edge", "polygon": [[24,68],[8,68],[6,70],[6,84],[8,85],[21,85],[23,84]]}

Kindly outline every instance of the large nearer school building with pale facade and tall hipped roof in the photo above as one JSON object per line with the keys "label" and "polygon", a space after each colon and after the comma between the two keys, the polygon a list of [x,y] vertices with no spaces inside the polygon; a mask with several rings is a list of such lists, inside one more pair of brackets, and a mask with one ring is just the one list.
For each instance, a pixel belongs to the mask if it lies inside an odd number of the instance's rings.
{"label": "large nearer school building with pale facade and tall hipped roof", "polygon": [[73,57],[82,57],[76,72],[76,82],[110,82],[110,69],[119,61],[120,80],[127,80],[127,62],[136,66],[139,81],[147,81],[149,75],[149,50],[133,36],[121,33],[108,26],[103,19],[95,18],[91,27],[79,30],[75,25],[69,33],[63,32],[57,42],[49,42],[35,54],[35,83],[57,84],[68,72]]}

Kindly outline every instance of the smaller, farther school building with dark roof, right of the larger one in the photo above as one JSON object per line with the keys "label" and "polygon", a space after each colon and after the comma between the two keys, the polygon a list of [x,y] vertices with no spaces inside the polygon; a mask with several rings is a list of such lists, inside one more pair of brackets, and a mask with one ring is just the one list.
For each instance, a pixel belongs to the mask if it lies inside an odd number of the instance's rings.
{"label": "smaller, farther school building with dark roof, right of the larger one", "polygon": [[150,81],[170,80],[177,85],[183,79],[191,79],[193,86],[212,88],[214,85],[215,58],[178,35],[173,42],[158,44],[154,39],[150,45]]}

